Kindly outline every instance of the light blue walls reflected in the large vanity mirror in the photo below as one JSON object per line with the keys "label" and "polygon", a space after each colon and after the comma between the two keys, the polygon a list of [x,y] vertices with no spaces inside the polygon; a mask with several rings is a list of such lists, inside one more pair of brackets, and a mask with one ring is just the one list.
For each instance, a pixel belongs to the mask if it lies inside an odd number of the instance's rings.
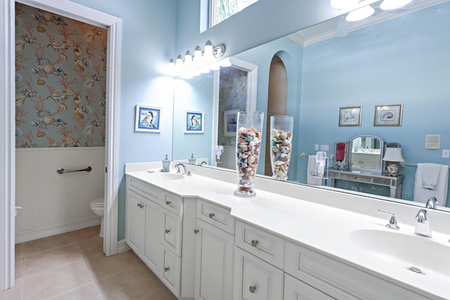
{"label": "light blue walls reflected in the large vanity mirror", "polygon": [[[446,38],[450,2],[415,0],[394,12],[382,15],[379,8],[375,11],[366,21],[346,23],[337,17],[235,58],[257,65],[255,110],[263,112],[267,111],[271,61],[277,56],[285,65],[287,115],[295,118],[289,181],[307,183],[308,156],[315,155],[316,146],[328,147],[331,157],[335,143],[350,141],[354,136],[378,136],[385,143],[401,144],[405,160],[400,169],[404,174],[401,198],[413,203],[417,164],[450,163],[442,157],[442,150],[450,148],[450,132],[446,130],[450,111],[450,39]],[[186,160],[195,153],[195,157],[208,158],[208,167],[221,167],[214,164],[212,151],[213,131],[217,130],[213,122],[218,114],[214,98],[219,97],[215,74],[176,79],[188,87],[189,93],[179,88],[177,92],[176,88],[174,113],[202,110],[207,124],[205,133],[193,141],[192,135],[184,133],[180,115],[174,115],[174,160]],[[403,104],[400,126],[375,125],[375,105],[394,103]],[[340,107],[351,106],[363,107],[361,124],[340,126]],[[266,116],[265,122],[268,119]],[[441,136],[441,148],[425,148],[427,135]],[[264,174],[264,164],[259,164],[257,173]],[[448,198],[445,202],[450,206]]]}

